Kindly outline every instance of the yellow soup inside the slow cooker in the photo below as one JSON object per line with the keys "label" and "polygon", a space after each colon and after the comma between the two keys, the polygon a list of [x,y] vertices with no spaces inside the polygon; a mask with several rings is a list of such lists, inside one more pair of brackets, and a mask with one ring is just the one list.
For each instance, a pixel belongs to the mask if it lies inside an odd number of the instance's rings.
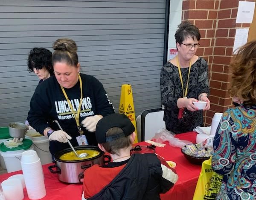
{"label": "yellow soup inside the slow cooker", "polygon": [[86,157],[77,157],[76,154],[73,151],[69,151],[63,155],[60,156],[61,160],[66,160],[66,161],[71,161],[71,160],[84,160],[84,159],[88,159],[91,157],[95,157],[97,155],[99,155],[99,151],[93,150],[93,149],[79,149],[76,150],[76,153],[82,154],[82,153],[86,153],[88,154]]}

